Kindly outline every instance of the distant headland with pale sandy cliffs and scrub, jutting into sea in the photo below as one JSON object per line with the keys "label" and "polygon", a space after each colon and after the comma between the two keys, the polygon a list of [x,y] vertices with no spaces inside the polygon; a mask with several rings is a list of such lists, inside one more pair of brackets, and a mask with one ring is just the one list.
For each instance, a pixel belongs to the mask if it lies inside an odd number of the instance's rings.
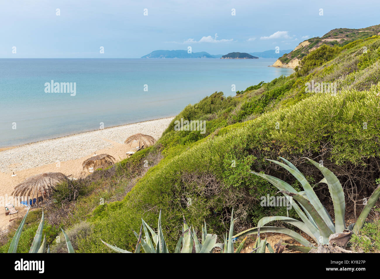
{"label": "distant headland with pale sandy cliffs and scrub, jutting into sea", "polygon": [[322,37],[315,37],[301,42],[294,50],[281,56],[272,66],[291,67],[298,66],[299,61],[323,44],[343,46],[358,39],[380,35],[380,25],[361,29],[337,28],[329,31]]}

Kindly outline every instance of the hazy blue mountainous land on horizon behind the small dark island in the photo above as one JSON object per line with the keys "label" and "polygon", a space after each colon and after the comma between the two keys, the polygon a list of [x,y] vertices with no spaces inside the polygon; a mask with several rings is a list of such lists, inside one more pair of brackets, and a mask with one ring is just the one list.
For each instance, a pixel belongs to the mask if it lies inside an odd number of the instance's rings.
{"label": "hazy blue mountainous land on horizon behind the small dark island", "polygon": [[[272,50],[266,50],[263,52],[249,52],[249,53],[241,53],[241,54],[252,55],[256,57],[256,58],[250,58],[250,59],[280,58],[285,53],[289,53],[291,51],[292,51],[291,49],[280,50],[279,53],[276,53],[275,50],[272,49]],[[239,52],[232,52],[232,53],[239,53]],[[155,50],[147,55],[142,56],[141,58],[222,58],[222,56],[228,56],[228,55],[231,55],[231,53],[228,53],[227,55],[210,54],[204,51],[188,53],[187,50],[179,49],[179,50]]]}

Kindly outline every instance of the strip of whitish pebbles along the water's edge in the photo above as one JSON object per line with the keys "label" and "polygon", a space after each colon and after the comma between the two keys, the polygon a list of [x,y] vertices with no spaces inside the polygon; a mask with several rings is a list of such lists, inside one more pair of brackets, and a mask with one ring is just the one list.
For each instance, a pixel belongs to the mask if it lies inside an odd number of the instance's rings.
{"label": "strip of whitish pebbles along the water's edge", "polygon": [[136,133],[158,139],[172,120],[173,117],[138,122],[7,149],[0,152],[0,172],[21,171],[81,158],[96,150],[111,147],[112,141],[122,144],[128,136]]}

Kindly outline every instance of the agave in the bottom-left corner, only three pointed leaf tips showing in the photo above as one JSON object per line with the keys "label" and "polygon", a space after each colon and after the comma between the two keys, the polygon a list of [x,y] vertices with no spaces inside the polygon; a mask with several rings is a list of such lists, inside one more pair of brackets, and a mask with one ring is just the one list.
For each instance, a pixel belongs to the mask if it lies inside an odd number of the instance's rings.
{"label": "agave in the bottom-left corner, only three pointed leaf tips showing", "polygon": [[[26,212],[24,218],[22,218],[22,221],[21,221],[19,227],[17,228],[16,233],[13,236],[13,239],[11,241],[11,245],[9,246],[9,249],[8,249],[8,253],[17,253],[17,246],[19,244],[22,229],[24,229],[24,224],[25,224],[26,217],[28,216],[29,209],[30,208],[28,208],[28,211]],[[33,238],[32,246],[30,246],[29,253],[45,253],[45,251],[46,251],[46,234],[44,235],[44,239],[41,243],[43,228],[44,228],[44,212],[42,211],[41,221],[40,221],[40,224],[38,225],[36,235]],[[74,253],[74,249],[73,249],[73,246],[71,246],[71,242],[70,242],[69,238],[67,237],[64,230],[62,230],[62,232],[63,232],[63,235],[65,235],[68,252]],[[49,247],[47,248],[47,252],[50,253]]]}

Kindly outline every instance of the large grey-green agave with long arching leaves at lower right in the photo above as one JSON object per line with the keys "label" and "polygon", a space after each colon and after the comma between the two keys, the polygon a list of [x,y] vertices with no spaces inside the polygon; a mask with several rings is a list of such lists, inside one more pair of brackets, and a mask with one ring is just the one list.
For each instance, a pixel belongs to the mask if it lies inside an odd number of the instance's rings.
{"label": "large grey-green agave with long arching leaves at lower right", "polygon": [[[375,191],[372,193],[371,197],[369,198],[366,206],[364,207],[356,223],[346,227],[345,219],[344,219],[344,215],[345,215],[344,192],[343,192],[342,185],[340,184],[337,177],[324,166],[320,165],[319,163],[309,158],[306,158],[314,166],[316,166],[322,172],[324,176],[324,178],[317,184],[326,183],[328,185],[328,189],[329,189],[331,199],[334,205],[334,215],[335,215],[335,223],[334,223],[332,221],[331,216],[327,212],[326,208],[321,204],[317,195],[313,191],[313,188],[311,187],[309,182],[307,182],[303,174],[289,161],[285,160],[282,157],[280,157],[280,159],[283,160],[285,163],[287,163],[287,165],[279,161],[274,161],[274,160],[269,160],[269,161],[272,161],[273,163],[276,163],[277,165],[280,165],[283,168],[287,169],[301,183],[304,191],[297,192],[293,187],[291,187],[291,185],[289,185],[285,181],[280,180],[276,177],[269,176],[266,174],[261,174],[258,172],[252,172],[252,173],[268,180],[268,182],[270,182],[275,187],[277,187],[280,190],[279,193],[282,193],[284,196],[293,197],[293,199],[297,201],[303,209],[302,211],[296,202],[292,202],[292,206],[294,210],[297,212],[298,216],[301,218],[302,221],[289,218],[289,217],[284,217],[284,216],[263,217],[258,222],[257,227],[245,230],[244,232],[237,234],[236,237],[241,237],[241,236],[250,235],[250,234],[257,234],[260,228],[261,232],[278,232],[278,233],[286,234],[292,237],[294,240],[301,243],[302,245],[306,246],[307,247],[306,251],[310,251],[310,249],[316,248],[315,246],[312,245],[312,243],[310,243],[308,240],[306,240],[304,237],[294,232],[293,230],[290,230],[287,228],[280,228],[280,227],[264,226],[265,224],[271,221],[282,221],[282,222],[291,224],[295,227],[298,227],[298,229],[302,230],[307,235],[309,235],[317,243],[318,251],[323,250],[321,247],[323,246],[327,247],[328,245],[330,245],[331,247],[334,243],[337,243],[340,246],[345,246],[345,244],[347,244],[348,240],[350,239],[352,232],[357,234],[359,230],[361,229],[361,227],[363,226],[370,212],[370,209],[375,205],[375,202],[380,196],[380,186],[377,187]],[[344,249],[340,249],[340,251],[342,250]],[[305,251],[305,249],[303,249],[302,251]]]}

